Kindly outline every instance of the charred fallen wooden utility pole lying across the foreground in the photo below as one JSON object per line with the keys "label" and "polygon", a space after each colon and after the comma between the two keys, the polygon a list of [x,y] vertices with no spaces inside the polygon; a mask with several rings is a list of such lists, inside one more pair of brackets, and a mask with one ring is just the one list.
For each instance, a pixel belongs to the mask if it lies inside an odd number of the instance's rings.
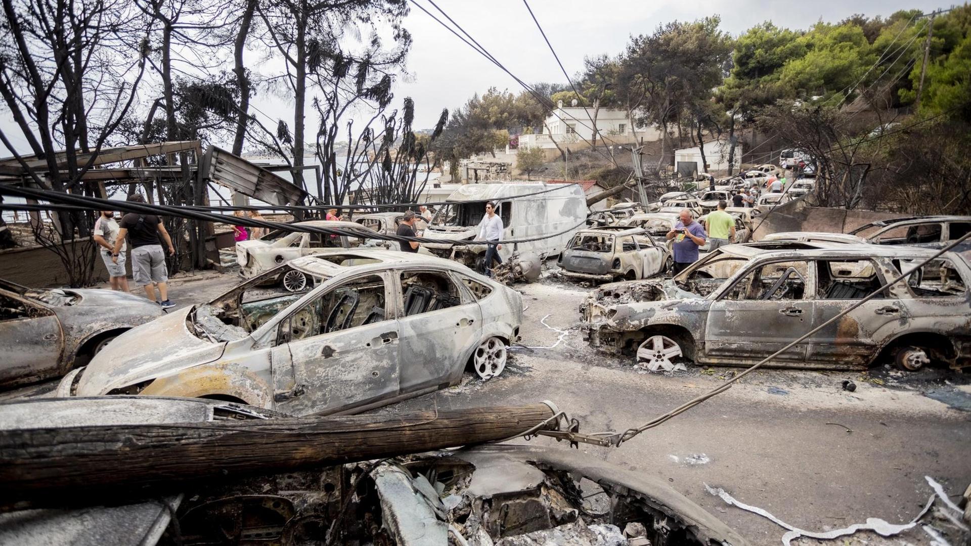
{"label": "charred fallen wooden utility pole lying across the foreground", "polygon": [[541,403],[397,417],[0,430],[0,490],[7,492],[3,504],[8,506],[17,501],[57,503],[58,497],[90,498],[109,491],[124,496],[178,491],[186,482],[211,478],[502,440],[552,417],[551,407]]}

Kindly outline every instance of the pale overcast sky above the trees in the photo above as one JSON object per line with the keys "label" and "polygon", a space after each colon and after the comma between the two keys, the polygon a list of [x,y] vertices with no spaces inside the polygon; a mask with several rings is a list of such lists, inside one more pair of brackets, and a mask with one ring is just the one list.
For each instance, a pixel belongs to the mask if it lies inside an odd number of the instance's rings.
{"label": "pale overcast sky above the trees", "polygon": [[[438,15],[428,0],[417,1]],[[522,0],[435,1],[522,81],[565,83]],[[530,7],[572,77],[583,68],[586,55],[617,55],[630,36],[650,33],[658,24],[672,20],[718,15],[721,28],[737,36],[763,20],[789,28],[808,28],[820,19],[835,22],[856,13],[887,17],[897,10],[913,8],[929,13],[942,5],[926,0],[531,0]],[[406,96],[415,99],[416,129],[433,127],[443,108],[452,111],[473,93],[485,92],[489,86],[514,93],[521,90],[510,76],[418,8],[412,6],[405,26],[414,37],[414,46],[408,56],[408,74],[400,77],[395,85],[391,108],[399,108]],[[250,57],[248,62],[252,60]],[[149,95],[154,96],[154,92],[147,89],[139,92],[140,99]],[[255,115],[269,126],[274,126],[277,119],[285,119],[292,127],[292,104],[286,104],[284,99],[263,95],[256,97],[253,105],[258,109]],[[308,105],[309,150],[313,149],[317,131],[316,118]],[[356,118],[360,120],[355,122],[355,127],[360,127],[363,116],[359,114]],[[21,153],[29,153],[9,112],[0,112],[0,125]],[[0,155],[7,154],[0,144]]]}

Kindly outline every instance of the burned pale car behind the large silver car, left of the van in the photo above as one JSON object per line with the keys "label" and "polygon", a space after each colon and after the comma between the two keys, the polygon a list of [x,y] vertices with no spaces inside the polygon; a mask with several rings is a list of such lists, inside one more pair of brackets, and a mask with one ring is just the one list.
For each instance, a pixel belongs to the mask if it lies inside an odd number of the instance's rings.
{"label": "burned pale car behind the large silver car, left of the van", "polygon": [[367,234],[374,232],[374,230],[360,223],[312,220],[295,222],[294,225],[350,229],[361,232],[361,237],[275,229],[259,239],[236,243],[236,261],[240,265],[240,276],[249,279],[254,275],[273,269],[285,261],[315,254],[321,249],[349,249],[367,244],[387,249],[398,248],[397,244],[391,246],[387,241],[369,239]]}

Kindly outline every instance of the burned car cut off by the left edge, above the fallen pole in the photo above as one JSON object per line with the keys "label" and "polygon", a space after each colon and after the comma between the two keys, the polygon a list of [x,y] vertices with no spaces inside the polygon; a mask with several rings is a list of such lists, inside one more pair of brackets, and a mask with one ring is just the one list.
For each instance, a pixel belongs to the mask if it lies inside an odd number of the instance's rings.
{"label": "burned car cut off by the left edge, above the fallen pole", "polygon": [[28,289],[0,280],[0,387],[60,377],[165,313],[116,290]]}

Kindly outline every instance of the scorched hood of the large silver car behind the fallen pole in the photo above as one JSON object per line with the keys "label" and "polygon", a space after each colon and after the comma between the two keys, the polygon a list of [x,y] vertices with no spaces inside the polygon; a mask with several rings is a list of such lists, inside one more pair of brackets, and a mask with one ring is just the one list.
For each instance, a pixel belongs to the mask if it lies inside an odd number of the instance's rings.
{"label": "scorched hood of the large silver car behind the fallen pole", "polygon": [[119,335],[91,358],[77,395],[106,394],[221,357],[225,343],[210,343],[189,333],[185,321],[192,309],[184,307]]}

